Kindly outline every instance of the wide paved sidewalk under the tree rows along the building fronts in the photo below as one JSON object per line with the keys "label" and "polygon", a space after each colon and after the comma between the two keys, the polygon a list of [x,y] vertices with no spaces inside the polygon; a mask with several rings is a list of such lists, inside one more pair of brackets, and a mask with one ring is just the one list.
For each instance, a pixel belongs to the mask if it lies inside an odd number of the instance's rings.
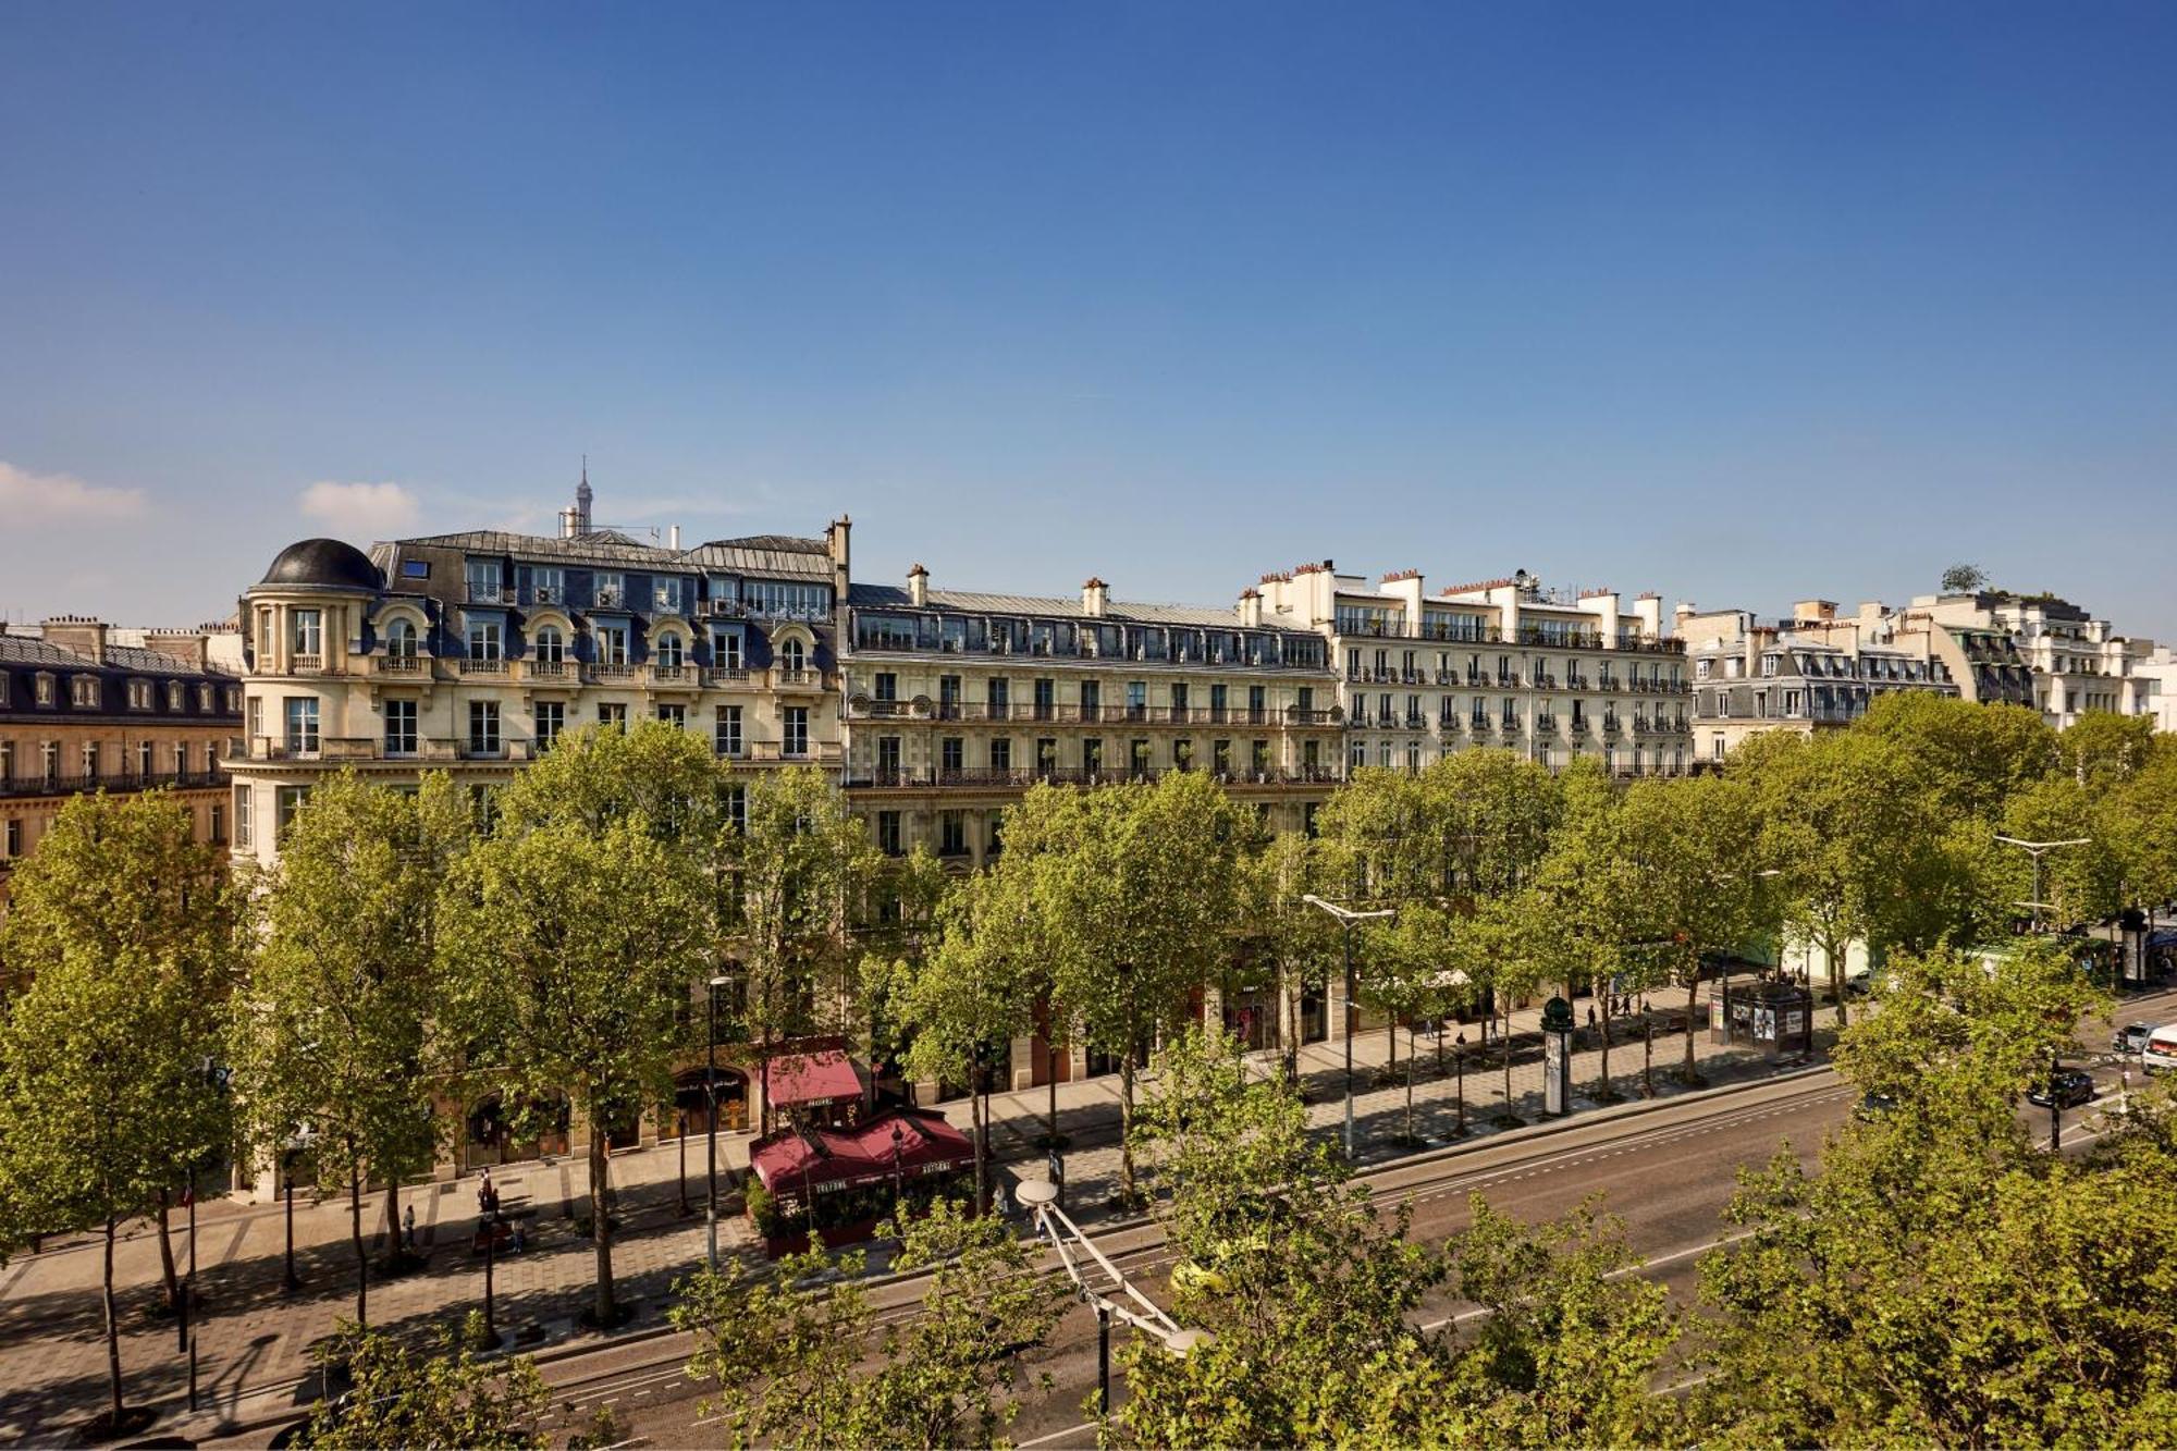
{"label": "wide paved sidewalk under the tree rows along the building fronts", "polygon": [[[1652,1002],[1665,1017],[1663,1002]],[[1683,1000],[1670,1013],[1683,1013]],[[1430,1142],[1448,1142],[1456,1129],[1456,1096],[1465,1092],[1465,1120],[1472,1137],[1496,1133],[1513,1120],[1533,1122],[1541,1115],[1539,1011],[1513,1013],[1511,1096],[1504,1094],[1504,1068],[1496,1041],[1483,1050],[1480,1026],[1465,1024],[1465,1074],[1450,1072],[1459,1052],[1446,1035],[1446,1074],[1437,1074],[1437,1039],[1417,1035],[1419,1057],[1413,1061],[1413,1124]],[[1820,1011],[1818,1020],[1829,1013]],[[1818,1044],[1829,1041],[1824,1031]],[[1354,1126],[1363,1161],[1380,1161],[1404,1153],[1395,1137],[1406,1122],[1406,1033],[1398,1035],[1398,1072],[1391,1074],[1389,1039],[1382,1028],[1354,1039],[1356,1098]],[[1598,1102],[1600,1052],[1583,1028],[1574,1057],[1574,1109]],[[1683,1037],[1655,1039],[1657,1094],[1683,1092],[1674,1070],[1683,1061]],[[1720,1048],[1696,1033],[1696,1057],[1709,1081],[1731,1081],[1770,1072],[1761,1057],[1746,1048]],[[1276,1072],[1278,1052],[1254,1054],[1263,1072]],[[1343,1044],[1311,1044],[1300,1050],[1300,1072],[1311,1096],[1311,1118],[1335,1133],[1343,1120]],[[1613,1083],[1620,1094],[1637,1096],[1641,1085],[1641,1039],[1633,1026],[1611,1052]],[[1067,1148],[1067,1200],[1084,1222],[1112,1214],[1110,1200],[1119,1181],[1119,1078],[1108,1074],[1058,1087],[1060,1131],[1071,1137]],[[1043,1150],[1036,1146],[1045,1129],[1049,1089],[1023,1089],[991,1098],[993,1157],[1001,1176],[1041,1179]],[[943,1105],[947,1118],[967,1129],[967,1100]],[[721,1185],[738,1181],[749,1161],[749,1135],[721,1135]],[[703,1257],[703,1139],[688,1142],[686,1196],[690,1216],[679,1211],[677,1142],[614,1155],[614,1185],[620,1209],[620,1231],[614,1246],[614,1270],[620,1294],[636,1303],[631,1329],[655,1327],[664,1318],[673,1279],[701,1264]],[[527,1211],[529,1251],[503,1257],[496,1266],[499,1325],[518,1333],[531,1349],[583,1336],[577,1314],[592,1290],[594,1251],[575,1229],[586,1214],[586,1166],[579,1157],[557,1161],[514,1163],[494,1170],[503,1209]],[[453,1183],[403,1190],[403,1205],[416,1207],[418,1240],[427,1264],[422,1270],[370,1283],[370,1322],[383,1329],[418,1331],[433,1320],[466,1314],[483,1301],[483,1264],[470,1255],[477,1220],[477,1174]],[[755,1255],[753,1233],[738,1214],[740,1200],[721,1194],[721,1253]],[[187,1248],[174,1220],[176,1264],[185,1266]],[[353,1314],[355,1259],[348,1244],[346,1196],[327,1203],[296,1200],[294,1235],[296,1268],[305,1281],[294,1296],[281,1292],[285,1220],[279,1205],[244,1205],[211,1200],[198,1207],[198,1285],[202,1318],[198,1322],[200,1390],[205,1412],[187,1416],[181,1397],[187,1368],[176,1353],[174,1325],[163,1318],[159,1290],[159,1251],[148,1224],[115,1251],[115,1279],[122,1285],[122,1368],[128,1377],[128,1399],[135,1403],[165,1401],[168,1429],[209,1431],[231,1414],[237,1397],[248,1394],[250,1416],[268,1414],[281,1403],[303,1405],[311,1388],[309,1346],[331,1331],[340,1316]],[[374,1251],[383,1251],[385,1198],[364,1203],[364,1233]],[[102,1405],[104,1342],[98,1303],[96,1240],[48,1246],[0,1268],[0,1440],[52,1440],[70,1423]],[[261,1399],[272,1392],[272,1399]]]}

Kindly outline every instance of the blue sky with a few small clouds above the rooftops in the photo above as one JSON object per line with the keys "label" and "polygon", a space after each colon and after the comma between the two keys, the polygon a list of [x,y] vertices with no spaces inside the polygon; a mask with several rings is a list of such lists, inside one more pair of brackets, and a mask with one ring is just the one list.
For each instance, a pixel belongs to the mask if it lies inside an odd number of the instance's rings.
{"label": "blue sky with a few small clouds above the rooftops", "polygon": [[17,0],[0,610],[549,529],[588,453],[862,577],[1975,560],[2177,636],[2173,187],[2170,4]]}

